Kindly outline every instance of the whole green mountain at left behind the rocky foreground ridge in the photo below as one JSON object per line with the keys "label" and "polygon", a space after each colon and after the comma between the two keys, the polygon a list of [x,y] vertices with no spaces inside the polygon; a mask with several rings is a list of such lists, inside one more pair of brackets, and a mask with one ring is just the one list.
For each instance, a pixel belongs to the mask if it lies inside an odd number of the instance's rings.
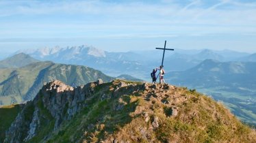
{"label": "whole green mountain at left behind the rocky foreground ridge", "polygon": [[18,104],[33,99],[44,82],[62,80],[79,86],[103,79],[113,80],[102,72],[86,66],[65,65],[51,61],[31,63],[19,68],[0,69],[0,105]]}

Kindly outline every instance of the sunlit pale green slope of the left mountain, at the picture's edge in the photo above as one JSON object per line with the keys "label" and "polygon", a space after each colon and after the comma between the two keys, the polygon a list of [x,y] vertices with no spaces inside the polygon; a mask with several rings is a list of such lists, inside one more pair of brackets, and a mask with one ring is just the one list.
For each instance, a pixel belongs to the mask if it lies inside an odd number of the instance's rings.
{"label": "sunlit pale green slope of the left mountain, at the picture's edge", "polygon": [[52,62],[31,63],[20,68],[0,69],[0,101],[3,105],[23,102],[23,96],[33,86],[40,71],[52,65]]}

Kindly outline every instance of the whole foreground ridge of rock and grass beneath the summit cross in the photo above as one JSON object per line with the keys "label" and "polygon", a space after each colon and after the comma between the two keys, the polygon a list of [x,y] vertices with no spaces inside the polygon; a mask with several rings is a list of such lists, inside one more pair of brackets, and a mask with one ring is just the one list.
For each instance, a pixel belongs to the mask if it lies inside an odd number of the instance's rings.
{"label": "whole foreground ridge of rock and grass beneath the summit cross", "polygon": [[53,81],[27,102],[4,142],[256,142],[256,132],[195,90]]}

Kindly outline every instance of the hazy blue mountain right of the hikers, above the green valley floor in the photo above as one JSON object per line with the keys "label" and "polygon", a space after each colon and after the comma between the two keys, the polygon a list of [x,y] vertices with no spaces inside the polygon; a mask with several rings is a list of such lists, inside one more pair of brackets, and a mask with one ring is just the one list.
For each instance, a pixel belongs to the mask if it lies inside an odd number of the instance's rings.
{"label": "hazy blue mountain right of the hikers, above the green valley floor", "polygon": [[233,86],[256,89],[256,62],[220,62],[207,59],[183,72],[170,72],[166,78],[186,86]]}

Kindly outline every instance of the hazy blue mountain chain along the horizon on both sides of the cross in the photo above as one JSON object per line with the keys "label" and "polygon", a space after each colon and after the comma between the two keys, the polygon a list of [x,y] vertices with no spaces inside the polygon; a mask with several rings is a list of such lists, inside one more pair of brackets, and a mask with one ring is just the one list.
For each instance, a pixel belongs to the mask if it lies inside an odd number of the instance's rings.
{"label": "hazy blue mountain chain along the horizon on both sides of the cross", "polygon": [[[110,76],[129,74],[146,80],[149,73],[162,62],[162,50],[146,50],[131,52],[106,52],[91,46],[73,46],[66,48],[40,48],[36,50],[20,50],[41,61],[54,61],[75,65],[86,65],[99,69]],[[181,50],[167,51],[164,59],[166,71],[183,71],[204,61],[244,61],[251,55],[232,50]]]}

